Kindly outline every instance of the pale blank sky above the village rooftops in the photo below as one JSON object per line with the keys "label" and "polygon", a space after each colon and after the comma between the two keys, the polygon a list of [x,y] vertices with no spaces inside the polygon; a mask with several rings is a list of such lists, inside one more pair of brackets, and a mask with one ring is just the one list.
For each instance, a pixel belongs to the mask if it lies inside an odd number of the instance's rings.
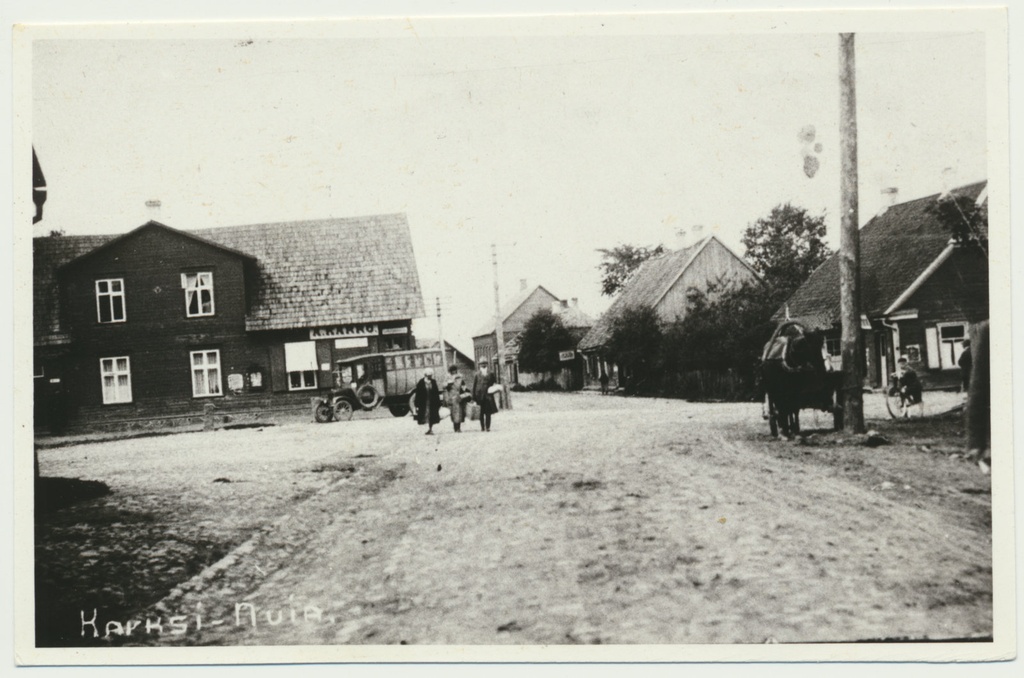
{"label": "pale blank sky above the village rooftops", "polygon": [[[400,33],[400,35],[399,35]],[[596,249],[702,224],[742,254],[779,203],[838,243],[836,34],[43,40],[35,235],[404,212],[430,319],[472,353],[519,280],[597,315]],[[860,216],[986,178],[985,39],[860,33]],[[813,126],[820,169],[804,173]]]}

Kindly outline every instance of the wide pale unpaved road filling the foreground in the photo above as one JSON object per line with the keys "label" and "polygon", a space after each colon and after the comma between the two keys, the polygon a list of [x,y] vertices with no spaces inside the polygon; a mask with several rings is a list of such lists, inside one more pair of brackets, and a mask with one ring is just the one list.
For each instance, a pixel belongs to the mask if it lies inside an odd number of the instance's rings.
{"label": "wide pale unpaved road filling the foreground", "polygon": [[[100,636],[108,621],[140,622],[130,638],[115,625],[117,642],[992,632],[988,481],[946,454],[948,439],[904,428],[873,449],[773,441],[757,405],[589,394],[515,405],[489,433],[444,422],[425,436],[409,419],[292,424],[41,451],[40,463],[106,481],[115,492],[98,502],[166,513],[157,507],[176,499],[178,522],[230,542],[225,560],[158,607],[100,606]],[[157,617],[160,632],[146,631]]]}

